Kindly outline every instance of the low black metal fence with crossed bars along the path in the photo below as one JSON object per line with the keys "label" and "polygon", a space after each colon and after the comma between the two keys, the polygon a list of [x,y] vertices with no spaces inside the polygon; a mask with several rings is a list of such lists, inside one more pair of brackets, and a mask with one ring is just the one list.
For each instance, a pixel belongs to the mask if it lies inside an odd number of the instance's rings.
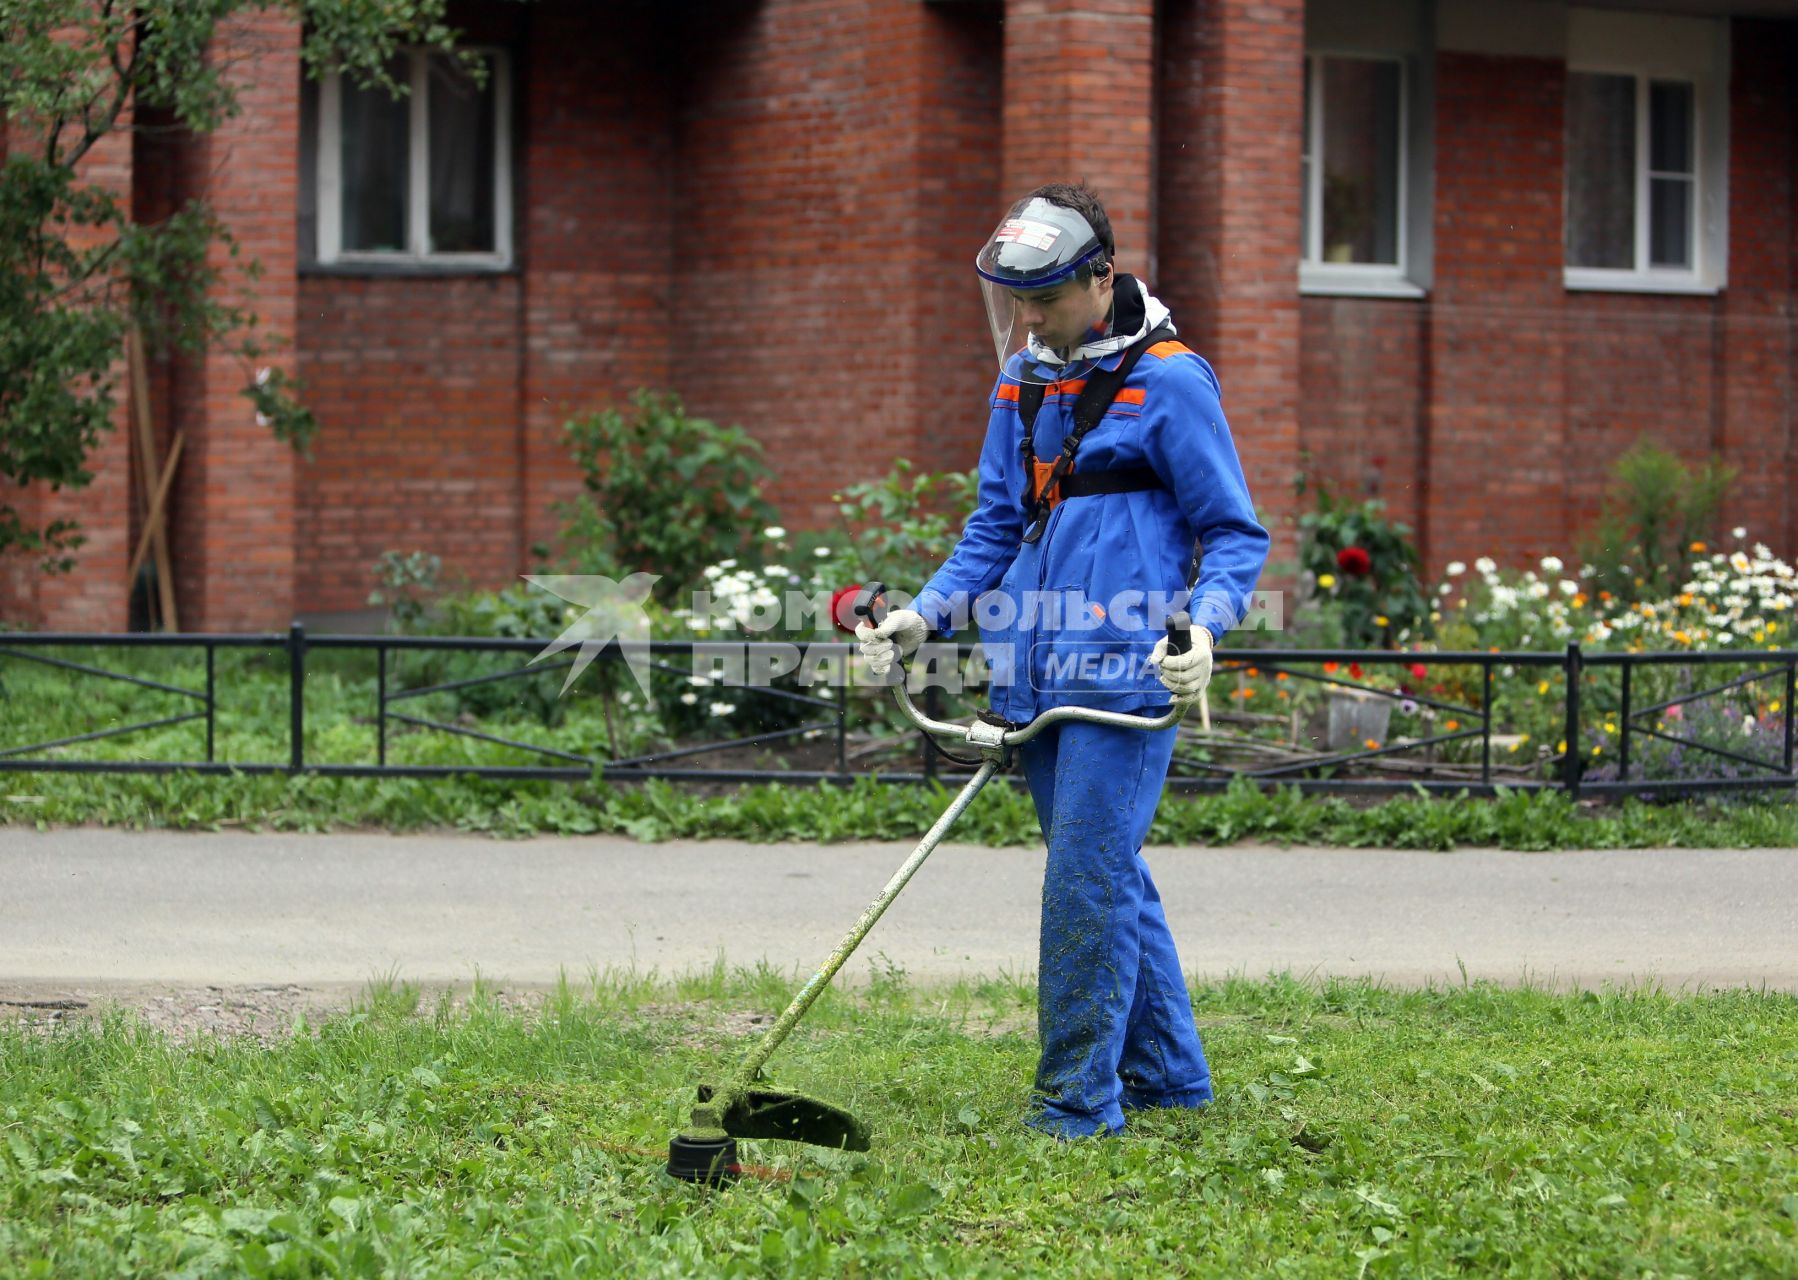
{"label": "low black metal fence with crossed bars along the path", "polygon": [[[85,662],[56,656],[68,649],[198,649],[205,656],[203,689],[185,689],[165,681],[151,680],[128,671],[115,671]],[[831,656],[847,660],[852,645],[814,644],[811,651],[829,651]],[[288,676],[288,742],[284,760],[219,760],[216,753],[219,719],[219,681],[218,654],[221,649],[261,649],[279,651],[286,656]],[[394,681],[394,656],[423,651],[455,653],[516,653],[527,658],[545,649],[543,640],[509,640],[478,636],[311,636],[295,624],[286,635],[72,635],[72,633],[13,633],[0,636],[0,674],[5,663],[32,663],[38,667],[59,669],[76,676],[104,681],[124,681],[126,685],[160,694],[171,694],[189,707],[182,714],[160,716],[126,724],[111,724],[93,732],[74,733],[52,741],[16,742],[11,741],[16,730],[13,723],[4,685],[0,685],[0,771],[68,771],[68,773],[315,773],[315,775],[358,775],[358,777],[493,777],[493,778],[563,778],[584,780],[595,773],[608,780],[705,780],[705,782],[852,782],[868,777],[867,769],[850,768],[850,737],[865,737],[852,726],[858,714],[867,716],[867,703],[849,698],[843,681],[825,690],[825,696],[806,689],[759,687],[757,694],[779,699],[784,708],[800,717],[797,724],[786,724],[761,733],[726,737],[716,741],[696,741],[671,746],[658,751],[640,753],[579,753],[557,746],[527,742],[520,739],[487,733],[467,723],[451,723],[412,714],[408,705],[433,694],[466,692],[480,685],[534,678],[547,672],[563,672],[575,665],[575,658],[557,662],[536,662],[511,671],[487,672],[460,680],[446,680],[417,687],[401,687]],[[667,640],[654,642],[649,649],[653,669],[672,674],[692,674],[694,656],[716,651],[716,644]],[[732,645],[743,651],[752,662],[762,653],[789,651],[791,645],[743,642]],[[372,728],[376,737],[374,762],[329,762],[307,759],[306,750],[306,681],[309,654],[315,653],[361,653],[372,654],[376,665],[376,692]],[[967,658],[971,645],[958,649],[960,658]],[[622,662],[624,654],[617,645],[610,645],[597,654],[597,662]],[[685,660],[685,665],[680,665]],[[1392,667],[1428,663],[1429,667],[1464,667],[1478,672],[1478,698],[1462,701],[1431,698],[1419,692],[1397,692],[1393,689],[1366,683],[1366,678],[1345,678],[1340,672],[1345,665]],[[1688,689],[1674,698],[1658,701],[1640,701],[1634,696],[1638,674],[1649,667],[1678,665],[1703,672],[1710,667],[1742,667],[1744,672],[1703,689]],[[1611,669],[1618,671],[1615,692],[1602,692],[1604,703],[1593,707],[1591,699],[1598,690],[1588,690],[1593,683],[1589,674]],[[1564,746],[1555,759],[1523,766],[1500,764],[1494,760],[1496,733],[1492,723],[1494,674],[1505,672],[1516,678],[1519,671],[1543,669],[1559,671],[1564,687]],[[1244,777],[1259,784],[1291,782],[1305,791],[1426,791],[1426,793],[1483,793],[1491,795],[1500,787],[1521,791],[1564,789],[1575,798],[1580,795],[1640,795],[1640,793],[1703,793],[1703,791],[1791,791],[1798,786],[1798,773],[1793,768],[1794,746],[1794,674],[1798,674],[1798,651],[1713,651],[1713,653],[1582,653],[1579,645],[1568,645],[1555,653],[1359,653],[1327,649],[1250,649],[1219,651],[1217,678],[1214,680],[1214,705],[1226,701],[1219,694],[1228,692],[1232,672],[1251,671],[1257,676],[1314,681],[1331,690],[1340,690],[1359,701],[1388,699],[1392,703],[1408,701],[1426,707],[1438,719],[1444,719],[1444,732],[1429,732],[1422,737],[1406,737],[1386,742],[1368,741],[1348,750],[1295,750],[1266,748],[1248,742],[1242,737],[1232,739],[1221,733],[1203,733],[1197,730],[1197,716],[1188,716],[1181,730],[1181,750],[1176,751],[1176,766],[1170,786],[1187,791],[1221,789],[1232,778]],[[1755,685],[1773,683],[1773,705],[1782,712],[1778,717],[1778,753],[1780,759],[1764,759],[1742,750],[1705,742],[1669,732],[1667,717],[1678,716],[1679,708],[1694,707],[1705,699],[1721,698],[1733,690],[1746,690]],[[926,690],[931,714],[942,714],[940,690]],[[1224,710],[1221,716],[1242,719]],[[1602,717],[1606,726],[1616,733],[1615,764],[1606,771],[1615,777],[1597,777],[1580,744],[1584,730]],[[1266,719],[1266,717],[1262,717]],[[1462,719],[1467,721],[1462,726]],[[205,759],[70,759],[68,750],[83,742],[115,739],[146,730],[165,728],[192,721],[203,721]],[[412,732],[435,732],[462,735],[467,739],[514,748],[539,757],[536,764],[417,764],[388,760],[388,737],[394,726]],[[834,744],[829,768],[692,768],[694,757],[721,751],[741,751],[744,748],[770,748],[793,739]],[[1295,732],[1296,739],[1296,732]],[[1451,742],[1478,742],[1478,751],[1458,751],[1460,757],[1449,760],[1442,748]],[[1512,737],[1514,742],[1514,737]],[[1721,762],[1717,768],[1733,777],[1647,777],[1640,768],[1640,757],[1633,760],[1645,742],[1667,742],[1681,751],[1699,753],[1706,760]],[[1259,751],[1259,755],[1257,755]],[[1235,757],[1235,759],[1232,759]],[[1269,759],[1271,757],[1271,759]],[[1534,757],[1530,757],[1534,760]],[[883,768],[874,777],[885,782],[928,782],[957,766],[948,762],[937,750],[921,744],[912,755],[910,768]],[[1375,777],[1366,777],[1372,771]]]}

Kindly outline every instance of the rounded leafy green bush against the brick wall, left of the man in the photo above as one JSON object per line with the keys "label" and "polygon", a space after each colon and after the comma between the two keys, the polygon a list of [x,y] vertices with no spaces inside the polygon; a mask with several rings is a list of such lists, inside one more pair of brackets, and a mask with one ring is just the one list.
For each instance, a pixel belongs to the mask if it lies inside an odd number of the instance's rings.
{"label": "rounded leafy green bush against the brick wall, left of the man", "polygon": [[676,602],[699,573],[779,523],[761,498],[762,446],[739,426],[690,417],[672,392],[638,390],[563,428],[586,493],[563,503],[563,547],[577,573],[660,573]]}

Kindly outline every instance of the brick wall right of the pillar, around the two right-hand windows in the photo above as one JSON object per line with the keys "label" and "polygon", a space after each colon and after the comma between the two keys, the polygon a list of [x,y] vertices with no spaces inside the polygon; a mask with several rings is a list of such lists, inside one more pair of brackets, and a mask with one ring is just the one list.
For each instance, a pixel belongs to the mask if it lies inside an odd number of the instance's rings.
{"label": "brick wall right of the pillar, around the two right-hand windows", "polygon": [[1435,288],[1307,298],[1302,361],[1304,448],[1415,516],[1433,566],[1577,550],[1643,437],[1694,464],[1721,453],[1740,473],[1724,523],[1791,548],[1793,25],[1737,22],[1731,45],[1719,297],[1566,289],[1562,65],[1438,54]]}

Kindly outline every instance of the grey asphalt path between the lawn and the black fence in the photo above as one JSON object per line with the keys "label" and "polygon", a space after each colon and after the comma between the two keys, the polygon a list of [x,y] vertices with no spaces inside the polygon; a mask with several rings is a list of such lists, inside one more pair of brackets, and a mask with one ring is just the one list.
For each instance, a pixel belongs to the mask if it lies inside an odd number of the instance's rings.
{"label": "grey asphalt path between the lawn and the black fence", "polygon": [[[0,982],[809,971],[910,845],[0,827]],[[1151,849],[1188,973],[1798,991],[1798,852]],[[1028,974],[1041,850],[944,845],[845,976]]]}

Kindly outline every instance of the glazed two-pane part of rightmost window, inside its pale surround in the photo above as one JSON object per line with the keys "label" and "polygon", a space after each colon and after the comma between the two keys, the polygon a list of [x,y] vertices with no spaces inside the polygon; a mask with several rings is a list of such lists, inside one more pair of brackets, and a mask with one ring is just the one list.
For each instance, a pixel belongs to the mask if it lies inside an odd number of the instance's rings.
{"label": "glazed two-pane part of rightmost window, inside its pale surround", "polygon": [[1697,268],[1697,93],[1687,81],[1568,72],[1566,264]]}

